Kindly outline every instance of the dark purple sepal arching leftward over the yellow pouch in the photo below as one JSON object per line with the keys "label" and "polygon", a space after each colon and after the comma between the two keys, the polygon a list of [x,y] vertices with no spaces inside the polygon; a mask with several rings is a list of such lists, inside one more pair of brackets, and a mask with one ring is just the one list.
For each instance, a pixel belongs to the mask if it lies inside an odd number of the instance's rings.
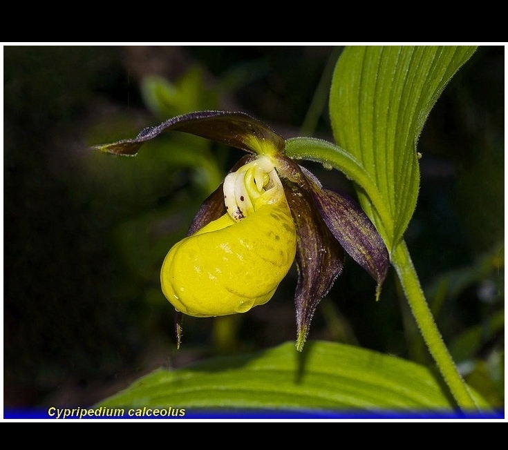
{"label": "dark purple sepal arching leftward over the yellow pouch", "polygon": [[262,122],[245,113],[199,111],[173,117],[159,126],[144,128],[134,139],[93,146],[95,150],[116,155],[135,155],[142,144],[167,131],[182,131],[220,144],[240,148],[249,153],[280,153],[284,139]]}

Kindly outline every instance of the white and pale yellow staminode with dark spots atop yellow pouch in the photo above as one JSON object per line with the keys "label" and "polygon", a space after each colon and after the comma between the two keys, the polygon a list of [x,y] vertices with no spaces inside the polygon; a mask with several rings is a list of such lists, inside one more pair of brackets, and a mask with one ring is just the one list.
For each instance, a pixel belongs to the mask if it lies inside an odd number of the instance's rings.
{"label": "white and pale yellow staminode with dark spots atop yellow pouch", "polygon": [[227,213],[238,222],[254,211],[259,197],[270,197],[265,204],[275,202],[283,194],[283,186],[272,159],[262,156],[229,173],[223,191]]}

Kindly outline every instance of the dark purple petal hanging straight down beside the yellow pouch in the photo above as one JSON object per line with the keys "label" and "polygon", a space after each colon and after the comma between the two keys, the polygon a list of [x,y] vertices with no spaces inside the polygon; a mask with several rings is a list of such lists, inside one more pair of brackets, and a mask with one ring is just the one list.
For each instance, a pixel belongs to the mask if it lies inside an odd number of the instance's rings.
{"label": "dark purple petal hanging straight down beside the yellow pouch", "polygon": [[298,284],[294,303],[297,349],[301,351],[319,301],[341,273],[344,249],[323,222],[310,191],[287,185],[284,190],[297,226]]}

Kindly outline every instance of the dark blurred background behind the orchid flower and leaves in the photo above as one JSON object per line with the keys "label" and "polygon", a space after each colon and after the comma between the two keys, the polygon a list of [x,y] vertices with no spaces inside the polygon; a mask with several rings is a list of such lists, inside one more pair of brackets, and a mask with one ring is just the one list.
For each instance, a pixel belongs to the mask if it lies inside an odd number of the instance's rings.
{"label": "dark blurred background behind the orchid flower and leaves", "polygon": [[[406,233],[446,344],[494,404],[504,403],[504,50],[478,48],[432,110],[419,141],[420,197]],[[295,339],[293,270],[272,301],[245,315],[185,318],[182,348],[175,348],[160,264],[239,151],[191,137],[170,138],[135,158],[88,146],[203,109],[243,110],[285,138],[332,141],[326,97],[340,52],[3,48],[6,407],[84,407],[159,366]],[[169,86],[162,106],[142,88],[152,75]],[[171,142],[196,146],[211,168],[158,151]],[[354,195],[341,174],[308,167],[324,184]],[[431,363],[393,271],[377,303],[374,291],[373,280],[349,261],[319,305],[309,338]]]}

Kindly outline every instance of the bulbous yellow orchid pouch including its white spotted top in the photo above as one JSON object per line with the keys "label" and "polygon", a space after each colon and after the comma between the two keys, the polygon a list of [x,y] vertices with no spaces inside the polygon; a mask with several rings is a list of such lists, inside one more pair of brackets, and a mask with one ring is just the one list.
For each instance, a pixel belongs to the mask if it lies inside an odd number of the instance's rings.
{"label": "bulbous yellow orchid pouch including its white spotted top", "polygon": [[297,234],[270,157],[227,175],[224,195],[227,213],[178,242],[162,264],[162,292],[187,315],[265,304],[294,261]]}

